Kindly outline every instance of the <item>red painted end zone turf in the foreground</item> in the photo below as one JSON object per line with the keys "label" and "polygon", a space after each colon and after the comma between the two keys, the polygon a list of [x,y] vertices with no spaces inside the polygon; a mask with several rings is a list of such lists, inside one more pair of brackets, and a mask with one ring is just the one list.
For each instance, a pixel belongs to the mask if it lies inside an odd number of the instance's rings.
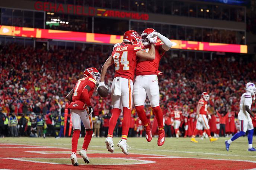
{"label": "red painted end zone turf in the foreground", "polygon": [[[8,148],[10,147],[10,148]],[[17,147],[17,148],[15,148]],[[23,148],[24,147],[24,148]],[[27,152],[35,151],[35,153]],[[47,154],[46,152],[60,151],[60,154]],[[36,153],[38,152],[38,153]],[[46,154],[42,154],[44,152]],[[61,153],[63,152],[63,153]],[[69,159],[70,152],[68,149],[62,148],[48,148],[42,146],[31,146],[28,148],[26,145],[0,145],[0,168],[1,169],[77,169],[65,164],[51,164],[51,163],[34,163],[29,161],[14,160],[24,157],[29,158],[67,158]],[[79,155],[77,155],[79,157]],[[176,157],[165,157],[165,156],[154,156],[154,155],[141,155],[141,154],[130,154],[125,156],[124,154],[109,154],[106,151],[104,153],[88,153],[89,158],[133,158],[137,160],[155,161],[156,163],[148,164],[129,164],[129,165],[84,165],[80,164],[82,168],[86,169],[253,169],[256,168],[256,163],[246,161],[234,161],[234,160],[208,160],[198,158],[176,158]],[[13,158],[13,159],[12,159]],[[40,159],[38,159],[40,161]],[[92,160],[91,160],[92,163]],[[114,160],[113,160],[114,163]]]}

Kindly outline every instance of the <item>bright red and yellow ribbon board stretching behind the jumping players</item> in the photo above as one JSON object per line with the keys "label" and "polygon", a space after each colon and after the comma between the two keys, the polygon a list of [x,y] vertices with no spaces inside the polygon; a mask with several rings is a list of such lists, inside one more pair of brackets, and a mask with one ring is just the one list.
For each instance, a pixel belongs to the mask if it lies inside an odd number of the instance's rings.
{"label": "bright red and yellow ribbon board stretching behind the jumping players", "polygon": [[[0,25],[0,35],[66,40],[74,42],[115,44],[122,42],[123,36],[74,31],[49,30],[39,28]],[[247,45],[209,43],[197,41],[172,40],[172,49],[247,53]]]}

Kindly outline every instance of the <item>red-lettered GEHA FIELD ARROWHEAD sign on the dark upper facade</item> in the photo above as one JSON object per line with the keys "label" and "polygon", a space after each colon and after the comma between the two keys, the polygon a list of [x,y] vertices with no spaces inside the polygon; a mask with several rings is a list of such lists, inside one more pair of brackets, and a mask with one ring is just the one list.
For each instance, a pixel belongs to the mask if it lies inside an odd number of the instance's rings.
{"label": "red-lettered GEHA FIELD ARROWHEAD sign on the dark upper facade", "polygon": [[87,7],[80,5],[63,5],[58,3],[41,2],[36,1],[34,4],[35,10],[55,12],[55,13],[67,13],[74,15],[84,16],[103,16],[103,17],[115,17],[122,19],[136,19],[136,20],[148,20],[148,14],[137,12],[125,12],[118,10],[108,10],[95,7]]}

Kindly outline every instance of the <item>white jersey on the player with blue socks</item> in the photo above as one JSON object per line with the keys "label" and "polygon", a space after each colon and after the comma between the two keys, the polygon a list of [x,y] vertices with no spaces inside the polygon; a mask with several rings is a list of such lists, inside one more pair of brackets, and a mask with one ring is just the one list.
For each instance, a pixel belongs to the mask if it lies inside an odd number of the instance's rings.
{"label": "white jersey on the player with blue socks", "polygon": [[252,94],[251,93],[246,92],[241,96],[240,111],[238,114],[238,119],[252,121],[252,119],[250,118],[250,114],[245,110],[245,106],[249,106],[249,109],[251,109],[251,107],[252,107]]}

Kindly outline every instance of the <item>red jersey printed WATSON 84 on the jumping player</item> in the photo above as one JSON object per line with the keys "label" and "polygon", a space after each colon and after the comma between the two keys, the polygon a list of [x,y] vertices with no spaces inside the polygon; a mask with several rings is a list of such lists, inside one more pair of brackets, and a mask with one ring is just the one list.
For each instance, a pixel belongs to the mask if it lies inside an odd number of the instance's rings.
{"label": "red jersey printed WATSON 84 on the jumping player", "polygon": [[113,49],[112,58],[115,63],[115,77],[134,79],[134,72],[137,65],[136,52],[142,50],[141,46],[125,44]]}

